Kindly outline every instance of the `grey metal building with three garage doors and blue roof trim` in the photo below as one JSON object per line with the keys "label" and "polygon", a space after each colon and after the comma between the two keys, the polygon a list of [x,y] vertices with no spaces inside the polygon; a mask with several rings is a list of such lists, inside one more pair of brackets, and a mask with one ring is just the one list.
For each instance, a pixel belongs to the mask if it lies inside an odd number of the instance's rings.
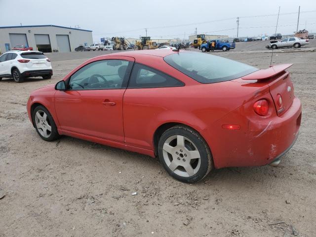
{"label": "grey metal building with three garage doors and blue roof trim", "polygon": [[92,31],[78,28],[39,25],[0,27],[0,52],[16,45],[33,47],[42,52],[69,52],[79,45],[93,43]]}

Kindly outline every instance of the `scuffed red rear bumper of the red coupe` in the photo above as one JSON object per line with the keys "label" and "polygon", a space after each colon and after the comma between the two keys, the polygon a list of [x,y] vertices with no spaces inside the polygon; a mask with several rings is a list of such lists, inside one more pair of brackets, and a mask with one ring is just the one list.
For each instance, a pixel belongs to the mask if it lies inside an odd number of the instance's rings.
{"label": "scuffed red rear bumper of the red coupe", "polygon": [[[298,138],[302,117],[298,98],[294,98],[291,107],[280,117],[249,117],[243,116],[243,111],[241,107],[220,119],[212,134],[208,134],[206,140],[216,168],[269,164],[288,152]],[[242,120],[240,130],[221,128],[222,124],[234,124],[238,117]],[[214,134],[218,134],[220,139],[214,139]]]}

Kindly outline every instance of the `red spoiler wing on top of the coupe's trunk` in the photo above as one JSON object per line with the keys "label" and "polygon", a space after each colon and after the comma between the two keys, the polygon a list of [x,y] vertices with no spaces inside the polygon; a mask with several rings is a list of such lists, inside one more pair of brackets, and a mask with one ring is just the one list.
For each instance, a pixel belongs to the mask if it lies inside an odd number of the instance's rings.
{"label": "red spoiler wing on top of the coupe's trunk", "polygon": [[285,69],[291,67],[293,64],[288,63],[288,64],[280,64],[276,66],[271,66],[270,68],[267,69],[260,69],[254,73],[248,74],[241,79],[244,80],[264,80],[264,79],[269,79],[277,74],[283,72]]}

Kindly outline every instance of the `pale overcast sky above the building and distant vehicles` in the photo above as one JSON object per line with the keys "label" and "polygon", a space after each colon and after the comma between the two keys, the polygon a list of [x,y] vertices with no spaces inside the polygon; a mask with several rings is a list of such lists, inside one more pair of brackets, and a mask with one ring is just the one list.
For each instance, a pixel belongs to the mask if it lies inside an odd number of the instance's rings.
{"label": "pale overcast sky above the building and distant vehicles", "polygon": [[316,32],[316,0],[0,0],[0,26],[79,25],[92,30],[95,41],[139,38],[146,35],[145,28],[155,38],[188,38],[196,28],[197,33],[236,37],[239,16],[239,37],[251,37],[275,33],[278,6],[277,32],[296,31],[299,4],[299,29],[306,24],[307,30]]}

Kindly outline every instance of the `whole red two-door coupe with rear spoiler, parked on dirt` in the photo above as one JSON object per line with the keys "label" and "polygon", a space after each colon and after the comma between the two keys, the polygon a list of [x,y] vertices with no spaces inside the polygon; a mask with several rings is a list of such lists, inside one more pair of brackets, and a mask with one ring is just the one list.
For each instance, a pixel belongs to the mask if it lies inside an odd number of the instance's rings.
{"label": "whole red two-door coupe with rear spoiler, parked on dirt", "polygon": [[158,156],[188,183],[212,168],[276,165],[295,143],[301,102],[282,64],[259,70],[190,51],[140,50],[92,58],[32,92],[40,137],[77,137]]}

